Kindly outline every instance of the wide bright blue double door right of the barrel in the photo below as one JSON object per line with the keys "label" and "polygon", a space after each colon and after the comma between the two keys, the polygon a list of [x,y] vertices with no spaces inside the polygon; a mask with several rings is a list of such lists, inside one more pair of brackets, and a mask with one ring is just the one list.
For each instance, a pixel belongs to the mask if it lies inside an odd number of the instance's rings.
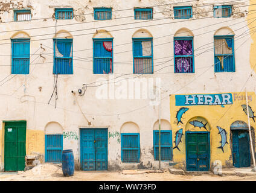
{"label": "wide bright blue double door right of the barrel", "polygon": [[82,170],[107,169],[107,128],[81,129]]}

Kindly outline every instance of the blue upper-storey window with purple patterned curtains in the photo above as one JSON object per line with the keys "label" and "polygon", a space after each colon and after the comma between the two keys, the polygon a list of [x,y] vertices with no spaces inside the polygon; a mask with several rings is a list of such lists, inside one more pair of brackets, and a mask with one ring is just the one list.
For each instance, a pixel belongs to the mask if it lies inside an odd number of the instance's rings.
{"label": "blue upper-storey window with purple patterned curtains", "polygon": [[194,72],[193,37],[174,37],[174,73]]}

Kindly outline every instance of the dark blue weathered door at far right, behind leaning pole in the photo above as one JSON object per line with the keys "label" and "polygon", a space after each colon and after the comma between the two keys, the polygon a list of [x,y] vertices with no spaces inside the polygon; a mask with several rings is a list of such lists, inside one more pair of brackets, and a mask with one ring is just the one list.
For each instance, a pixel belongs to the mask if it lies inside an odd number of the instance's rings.
{"label": "dark blue weathered door at far right, behind leaning pole", "polygon": [[249,133],[246,130],[232,130],[232,157],[236,168],[251,165]]}

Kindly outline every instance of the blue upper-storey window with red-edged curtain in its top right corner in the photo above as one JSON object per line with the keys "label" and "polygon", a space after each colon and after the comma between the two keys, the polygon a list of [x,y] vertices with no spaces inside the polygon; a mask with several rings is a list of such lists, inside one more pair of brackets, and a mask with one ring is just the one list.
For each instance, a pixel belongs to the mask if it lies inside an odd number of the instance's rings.
{"label": "blue upper-storey window with red-edged curtain in its top right corner", "polygon": [[94,40],[94,74],[113,73],[113,38]]}

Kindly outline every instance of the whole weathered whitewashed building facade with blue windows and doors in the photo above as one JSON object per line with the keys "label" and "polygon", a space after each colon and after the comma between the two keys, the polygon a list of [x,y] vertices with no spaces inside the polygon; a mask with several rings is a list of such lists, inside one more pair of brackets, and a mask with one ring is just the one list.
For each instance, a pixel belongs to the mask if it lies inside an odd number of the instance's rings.
{"label": "whole weathered whitewashed building facade with blue windows and doors", "polygon": [[77,169],[158,168],[159,120],[162,168],[251,165],[235,157],[245,87],[256,128],[250,3],[1,2],[1,170],[66,149]]}

